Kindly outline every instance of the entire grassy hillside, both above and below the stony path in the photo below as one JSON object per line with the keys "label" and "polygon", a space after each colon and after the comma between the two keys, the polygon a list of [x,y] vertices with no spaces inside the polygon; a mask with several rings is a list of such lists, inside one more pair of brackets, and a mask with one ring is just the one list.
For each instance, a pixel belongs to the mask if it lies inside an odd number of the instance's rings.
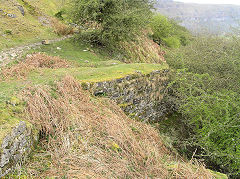
{"label": "entire grassy hillside, both above and below the stony path", "polygon": [[[0,49],[55,38],[51,17],[64,2],[1,1]],[[86,82],[169,71],[151,30],[111,47],[89,43],[89,32],[31,49],[0,68],[0,141],[19,121],[40,131],[25,164],[7,178],[227,178],[179,156],[160,123],[130,119],[113,101],[82,89]]]}

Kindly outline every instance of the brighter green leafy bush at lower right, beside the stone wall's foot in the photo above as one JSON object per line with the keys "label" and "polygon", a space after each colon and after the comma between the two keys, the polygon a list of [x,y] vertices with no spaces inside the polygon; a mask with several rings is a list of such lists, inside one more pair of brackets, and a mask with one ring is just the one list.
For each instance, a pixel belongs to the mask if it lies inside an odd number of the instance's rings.
{"label": "brighter green leafy bush at lower right, beside the stone wall's foot", "polygon": [[229,90],[211,89],[212,81],[208,74],[179,70],[171,85],[178,112],[195,134],[188,143],[198,147],[200,156],[222,171],[239,176],[240,96]]}

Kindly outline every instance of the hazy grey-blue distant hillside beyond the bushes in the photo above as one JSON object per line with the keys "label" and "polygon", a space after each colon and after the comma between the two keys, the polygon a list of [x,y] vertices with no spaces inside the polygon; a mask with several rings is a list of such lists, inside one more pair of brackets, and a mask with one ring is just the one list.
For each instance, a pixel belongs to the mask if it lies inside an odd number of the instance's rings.
{"label": "hazy grey-blue distant hillside beyond the bushes", "polygon": [[239,26],[240,6],[207,5],[157,0],[157,11],[181,22],[192,32],[225,34]]}

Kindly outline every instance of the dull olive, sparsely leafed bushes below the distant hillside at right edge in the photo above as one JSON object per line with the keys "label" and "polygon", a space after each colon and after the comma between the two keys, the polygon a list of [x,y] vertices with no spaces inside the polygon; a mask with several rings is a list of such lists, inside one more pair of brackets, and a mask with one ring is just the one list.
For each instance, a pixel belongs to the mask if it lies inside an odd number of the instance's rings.
{"label": "dull olive, sparsely leafed bushes below the distant hillside at right edge", "polygon": [[239,39],[202,37],[191,44],[167,53],[167,63],[174,69],[187,68],[197,74],[209,74],[215,90],[239,91],[240,83]]}

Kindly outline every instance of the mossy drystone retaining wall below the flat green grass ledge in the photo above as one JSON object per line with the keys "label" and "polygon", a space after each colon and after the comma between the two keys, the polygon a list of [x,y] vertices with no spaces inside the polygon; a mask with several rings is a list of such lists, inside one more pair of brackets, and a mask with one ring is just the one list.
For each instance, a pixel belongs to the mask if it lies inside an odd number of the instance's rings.
{"label": "mossy drystone retaining wall below the flat green grass ledge", "polygon": [[95,96],[114,100],[131,117],[156,122],[169,112],[163,97],[168,81],[168,70],[153,71],[144,75],[136,73],[113,81],[83,84]]}

